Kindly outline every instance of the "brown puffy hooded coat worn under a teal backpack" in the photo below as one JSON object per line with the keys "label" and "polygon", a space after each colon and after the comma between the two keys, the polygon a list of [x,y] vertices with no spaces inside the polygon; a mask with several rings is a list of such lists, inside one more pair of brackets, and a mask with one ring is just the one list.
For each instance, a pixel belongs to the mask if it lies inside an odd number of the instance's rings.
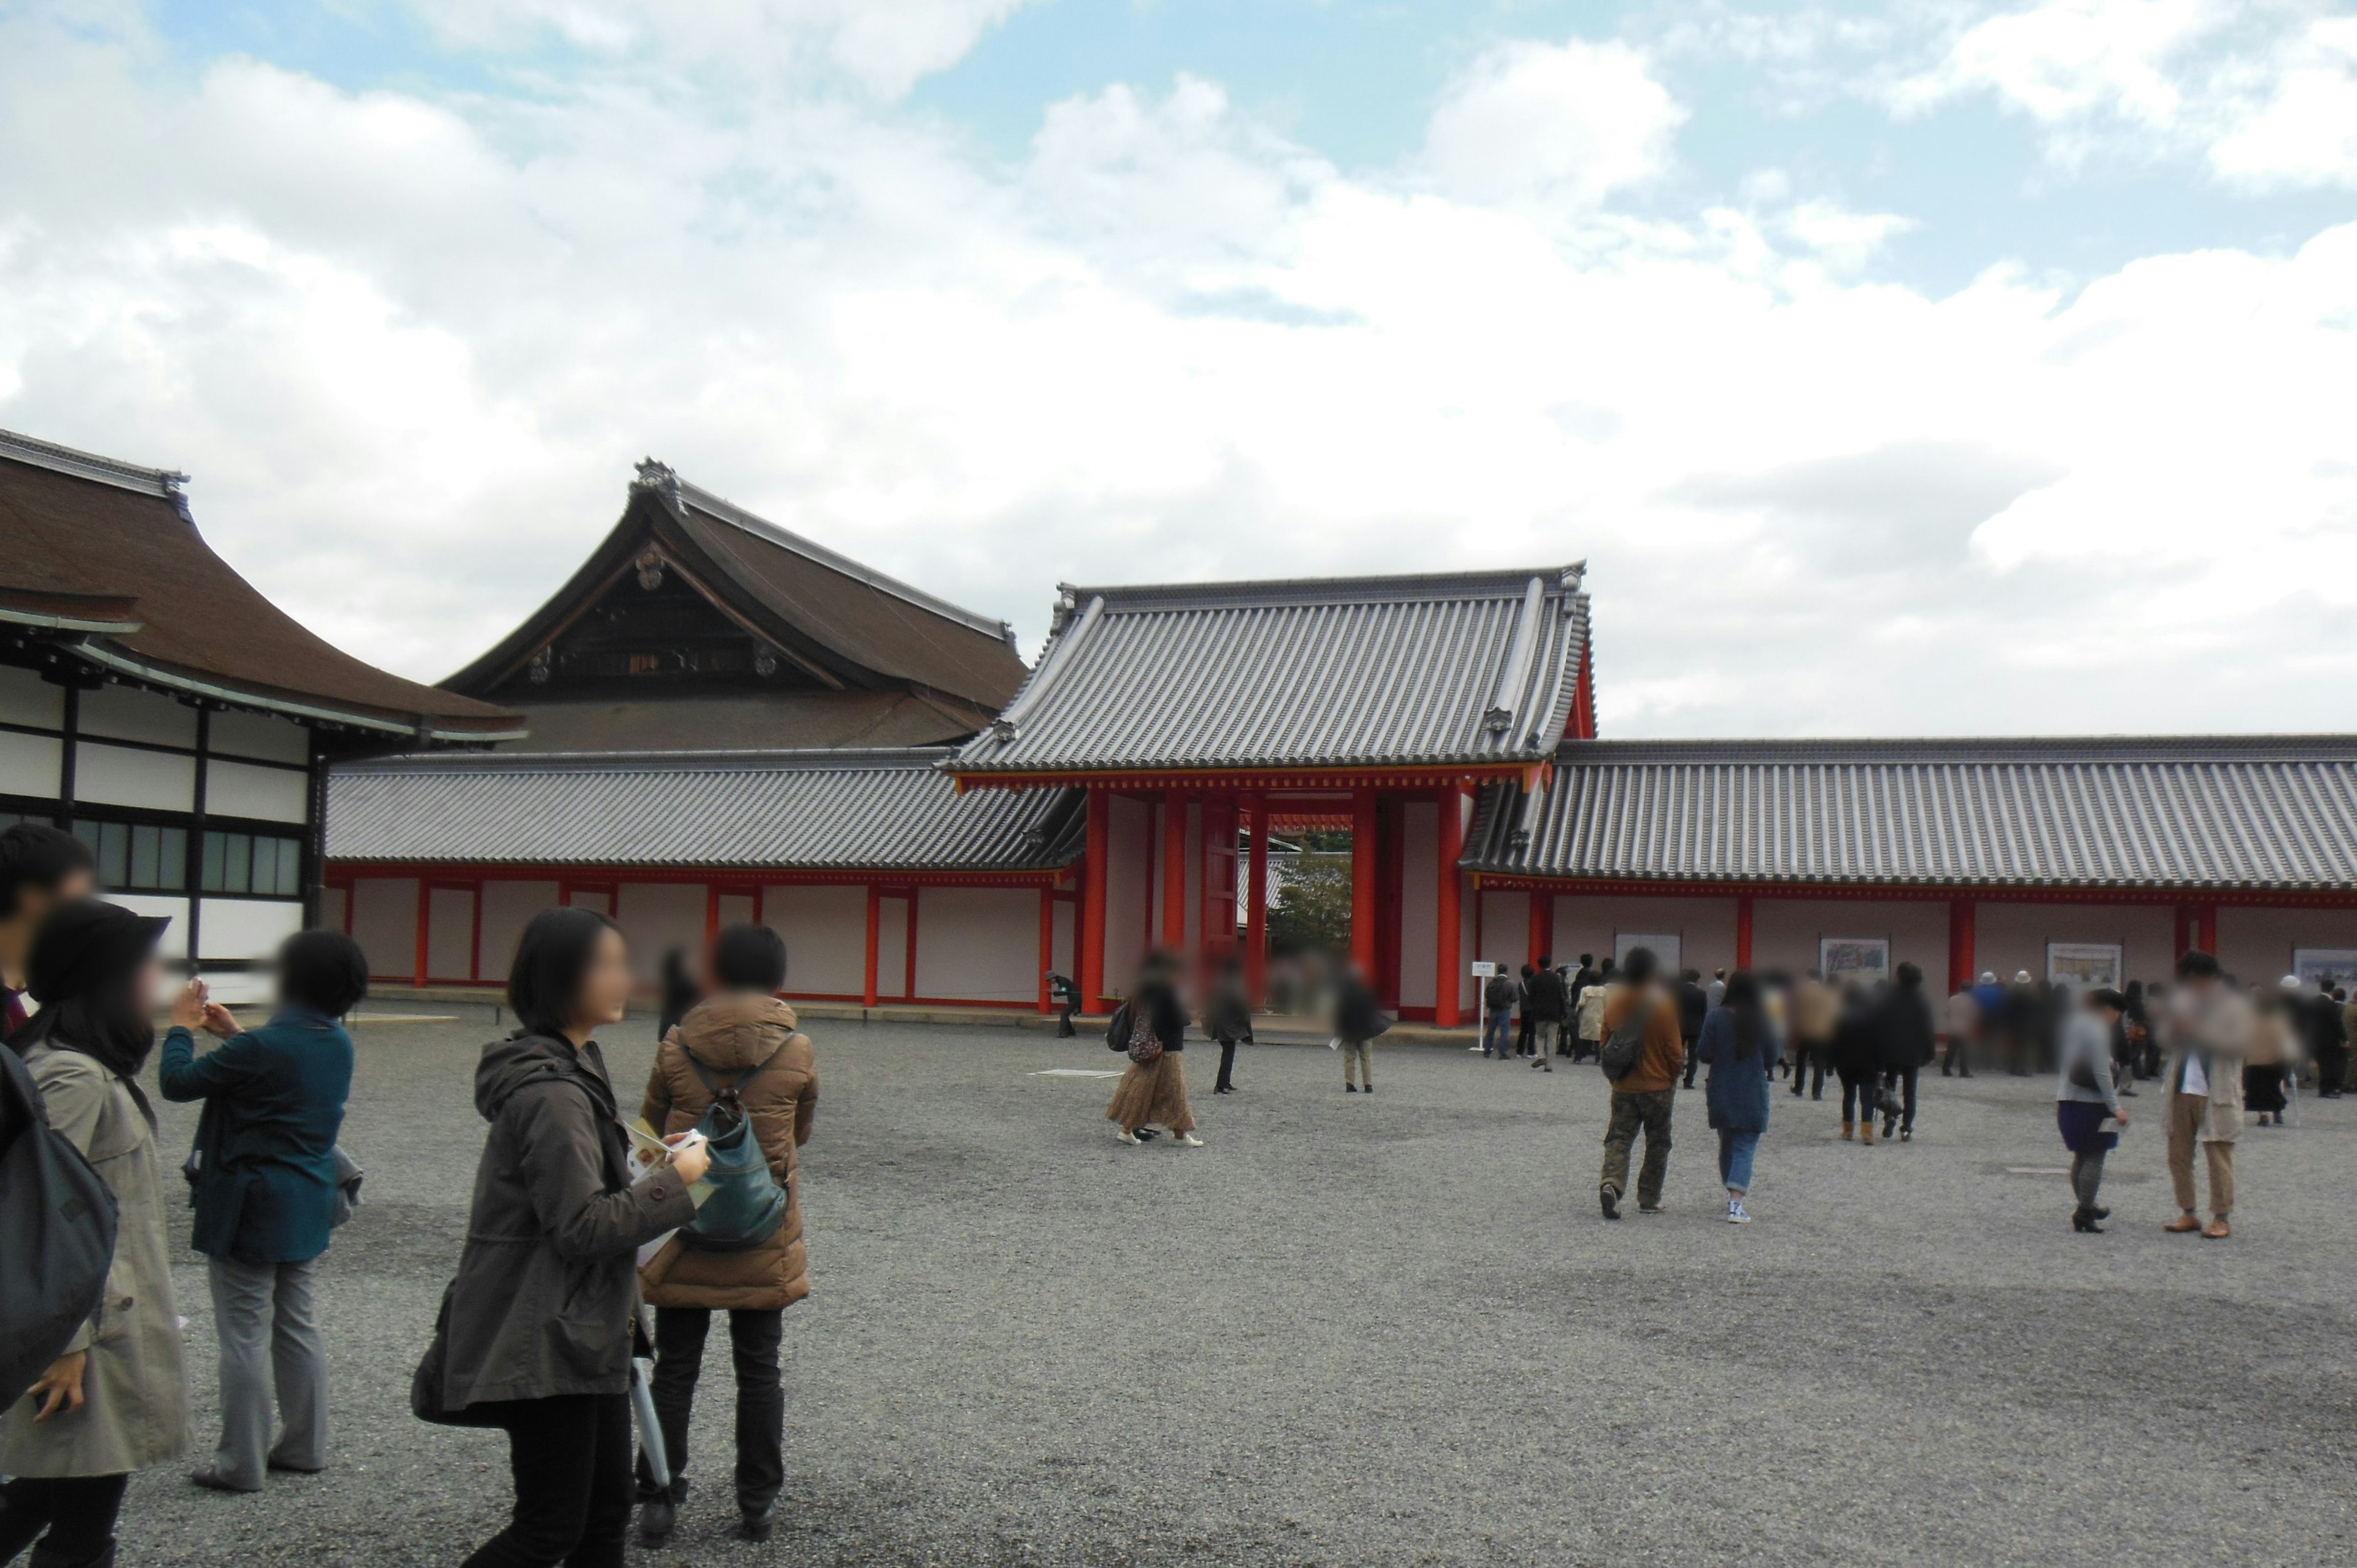
{"label": "brown puffy hooded coat worn under a teal backpack", "polygon": [[[794,1009],[775,997],[724,993],[698,1002],[655,1052],[646,1078],[646,1122],[669,1137],[702,1120],[714,1094],[695,1073],[700,1061],[721,1087],[742,1085],[740,1099],[768,1155],[768,1174],[785,1186],[785,1221],[761,1245],[714,1252],[674,1236],[651,1257],[639,1285],[655,1306],[775,1309],[811,1294],[799,1151],[818,1118],[818,1049],[794,1023]],[[688,1061],[691,1052],[695,1061]]]}

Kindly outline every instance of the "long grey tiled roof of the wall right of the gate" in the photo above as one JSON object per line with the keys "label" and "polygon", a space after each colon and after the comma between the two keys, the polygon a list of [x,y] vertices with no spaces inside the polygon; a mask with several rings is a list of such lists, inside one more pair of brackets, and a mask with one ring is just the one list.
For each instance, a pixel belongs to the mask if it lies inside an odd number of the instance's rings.
{"label": "long grey tiled roof of the wall right of the gate", "polygon": [[2357,887],[2357,736],[1586,740],[1464,861],[1615,882]]}

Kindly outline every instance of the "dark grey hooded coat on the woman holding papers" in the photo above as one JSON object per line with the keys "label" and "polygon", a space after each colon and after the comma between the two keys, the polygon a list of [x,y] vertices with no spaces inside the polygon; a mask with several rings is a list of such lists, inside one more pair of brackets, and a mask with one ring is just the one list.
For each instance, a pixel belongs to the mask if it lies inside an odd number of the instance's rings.
{"label": "dark grey hooded coat on the woman holding papers", "polygon": [[627,1391],[636,1252],[695,1219],[686,1184],[669,1167],[632,1184],[596,1042],[486,1045],[474,1108],[490,1137],[450,1285],[443,1408]]}

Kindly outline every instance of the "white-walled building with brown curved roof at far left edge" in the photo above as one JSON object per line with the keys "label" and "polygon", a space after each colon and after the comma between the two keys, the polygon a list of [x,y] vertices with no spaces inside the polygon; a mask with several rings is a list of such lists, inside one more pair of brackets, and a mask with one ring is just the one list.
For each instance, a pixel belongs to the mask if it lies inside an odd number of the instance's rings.
{"label": "white-walled building with brown curved roof at far left edge", "polygon": [[523,733],[375,670],[205,545],[184,474],[0,431],[0,823],[80,835],[226,1000],[321,898],[328,764]]}

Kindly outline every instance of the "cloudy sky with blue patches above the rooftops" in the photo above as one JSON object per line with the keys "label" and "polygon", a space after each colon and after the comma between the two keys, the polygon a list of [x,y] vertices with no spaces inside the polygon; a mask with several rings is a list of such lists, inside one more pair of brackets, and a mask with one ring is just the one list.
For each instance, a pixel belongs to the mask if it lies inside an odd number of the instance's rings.
{"label": "cloudy sky with blue patches above the rooftops", "polygon": [[2357,12],[0,0],[0,427],[448,674],[632,462],[992,615],[1586,559],[1607,736],[2357,726]]}

